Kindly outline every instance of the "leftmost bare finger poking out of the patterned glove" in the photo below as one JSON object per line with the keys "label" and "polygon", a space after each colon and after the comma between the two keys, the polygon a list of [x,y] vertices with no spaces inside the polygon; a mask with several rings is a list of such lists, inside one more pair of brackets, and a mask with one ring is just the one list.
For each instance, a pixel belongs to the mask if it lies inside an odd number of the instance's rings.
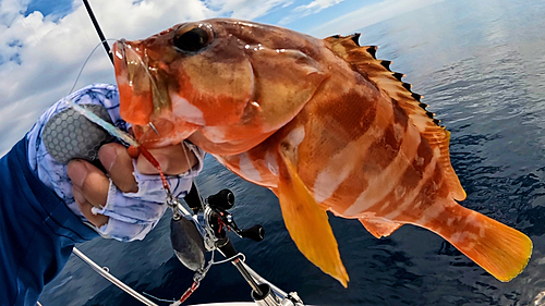
{"label": "leftmost bare finger poking out of the patterned glove", "polygon": [[[110,180],[102,171],[85,160],[72,160],[68,164],[68,174],[72,185],[78,188],[81,196],[95,207],[104,207],[108,198]],[[82,200],[83,201],[83,200]]]}

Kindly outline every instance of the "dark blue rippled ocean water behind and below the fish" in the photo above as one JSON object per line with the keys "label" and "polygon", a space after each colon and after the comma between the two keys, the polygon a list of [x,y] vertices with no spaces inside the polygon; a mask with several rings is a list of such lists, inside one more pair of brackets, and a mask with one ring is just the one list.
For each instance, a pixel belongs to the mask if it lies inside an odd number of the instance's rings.
{"label": "dark blue rippled ocean water behind and below the fish", "polygon": [[[263,277],[314,305],[542,305],[545,1],[443,1],[360,32],[361,44],[379,46],[377,57],[408,75],[404,81],[451,132],[451,161],[468,193],[462,205],[530,235],[534,253],[528,268],[501,283],[424,229],[404,225],[376,240],[358,221],[331,217],[350,276],[343,289],[299,253],[269,191],[208,157],[197,180],[202,194],[231,188],[238,224],[266,230],[263,242],[233,237],[234,246]],[[193,273],[173,256],[168,218],[145,241],[97,238],[78,248],[137,291],[178,298]],[[250,301],[249,285],[229,264],[213,267],[187,303],[228,301]],[[75,257],[40,302],[141,305]]]}

